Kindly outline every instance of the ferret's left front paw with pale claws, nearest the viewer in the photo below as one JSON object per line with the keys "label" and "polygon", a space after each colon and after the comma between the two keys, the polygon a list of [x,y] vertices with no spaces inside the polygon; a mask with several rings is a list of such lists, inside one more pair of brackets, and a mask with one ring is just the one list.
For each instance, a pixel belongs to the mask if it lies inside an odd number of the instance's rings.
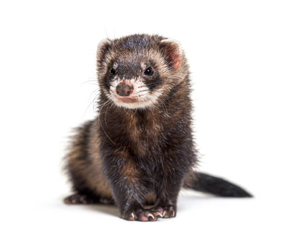
{"label": "ferret's left front paw with pale claws, nearest the viewer", "polygon": [[122,216],[123,219],[129,221],[156,221],[162,217],[163,215],[157,211],[143,208],[128,211]]}

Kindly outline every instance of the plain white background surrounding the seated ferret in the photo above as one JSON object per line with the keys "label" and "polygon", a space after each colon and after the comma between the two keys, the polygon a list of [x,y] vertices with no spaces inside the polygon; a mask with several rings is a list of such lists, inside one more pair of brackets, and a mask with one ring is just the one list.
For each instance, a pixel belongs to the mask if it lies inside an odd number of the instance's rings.
{"label": "plain white background surrounding the seated ferret", "polygon": [[[1,240],[297,240],[297,13],[287,0],[1,1]],[[254,199],[183,192],[175,219],[147,223],[62,203],[67,137],[96,115],[96,45],[133,33],[182,43],[201,169]]]}

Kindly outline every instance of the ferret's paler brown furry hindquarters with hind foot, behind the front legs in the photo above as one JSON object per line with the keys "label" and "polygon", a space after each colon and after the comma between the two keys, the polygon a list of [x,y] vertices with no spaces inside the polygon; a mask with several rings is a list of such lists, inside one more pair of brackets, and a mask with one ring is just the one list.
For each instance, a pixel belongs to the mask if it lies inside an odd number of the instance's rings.
{"label": "ferret's paler brown furry hindquarters with hind foot, behind the front legs", "polygon": [[112,204],[112,193],[98,155],[98,125],[86,122],[77,128],[66,156],[65,170],[75,192],[64,199],[71,203]]}

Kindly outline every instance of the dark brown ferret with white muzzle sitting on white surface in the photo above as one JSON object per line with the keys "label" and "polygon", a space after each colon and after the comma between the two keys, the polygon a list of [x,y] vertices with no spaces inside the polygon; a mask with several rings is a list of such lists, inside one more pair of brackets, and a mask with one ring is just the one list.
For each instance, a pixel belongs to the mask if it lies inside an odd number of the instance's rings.
{"label": "dark brown ferret with white muzzle sitting on white surface", "polygon": [[65,203],[115,203],[125,220],[156,221],[176,216],[181,188],[251,197],[193,170],[189,70],[177,41],[145,34],[103,40],[97,75],[98,118],[73,138],[66,169],[75,194]]}

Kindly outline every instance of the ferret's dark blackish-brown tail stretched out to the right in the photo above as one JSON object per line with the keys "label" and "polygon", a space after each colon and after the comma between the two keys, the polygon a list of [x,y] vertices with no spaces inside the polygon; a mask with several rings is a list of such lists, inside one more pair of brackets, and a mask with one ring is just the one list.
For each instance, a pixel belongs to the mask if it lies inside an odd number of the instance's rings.
{"label": "ferret's dark blackish-brown tail stretched out to the right", "polygon": [[229,181],[200,172],[194,172],[191,177],[187,177],[184,187],[221,197],[252,197],[244,189]]}

